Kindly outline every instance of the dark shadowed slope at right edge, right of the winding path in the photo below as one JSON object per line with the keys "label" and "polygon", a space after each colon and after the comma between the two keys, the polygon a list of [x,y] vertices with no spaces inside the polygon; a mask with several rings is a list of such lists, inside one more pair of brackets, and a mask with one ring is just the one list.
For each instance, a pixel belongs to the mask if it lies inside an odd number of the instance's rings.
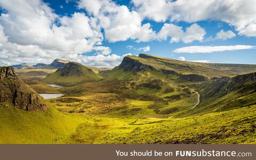
{"label": "dark shadowed slope at right edge, right of the winding path", "polygon": [[[230,110],[256,104],[256,73],[239,75],[230,81],[209,81],[203,83],[198,92],[201,103],[193,109],[187,110],[180,116],[211,113],[213,111]],[[237,79],[237,80],[235,80]]]}

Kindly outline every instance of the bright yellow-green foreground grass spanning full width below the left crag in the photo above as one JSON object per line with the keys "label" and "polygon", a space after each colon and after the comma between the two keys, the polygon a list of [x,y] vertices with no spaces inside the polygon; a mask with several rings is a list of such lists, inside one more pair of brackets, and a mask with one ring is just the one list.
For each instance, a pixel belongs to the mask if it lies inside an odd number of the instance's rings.
{"label": "bright yellow-green foreground grass spanning full width below the left crag", "polygon": [[0,143],[256,143],[255,105],[185,118],[0,111]]}

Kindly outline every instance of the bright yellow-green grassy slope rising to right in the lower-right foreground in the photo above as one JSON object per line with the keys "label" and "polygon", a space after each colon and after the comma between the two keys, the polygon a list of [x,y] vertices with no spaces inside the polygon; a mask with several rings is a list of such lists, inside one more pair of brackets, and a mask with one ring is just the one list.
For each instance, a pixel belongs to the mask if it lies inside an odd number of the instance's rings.
{"label": "bright yellow-green grassy slope rising to right in the lower-right foreground", "polygon": [[[256,106],[186,118],[142,118],[93,143],[256,143]],[[79,131],[78,131],[79,132]]]}

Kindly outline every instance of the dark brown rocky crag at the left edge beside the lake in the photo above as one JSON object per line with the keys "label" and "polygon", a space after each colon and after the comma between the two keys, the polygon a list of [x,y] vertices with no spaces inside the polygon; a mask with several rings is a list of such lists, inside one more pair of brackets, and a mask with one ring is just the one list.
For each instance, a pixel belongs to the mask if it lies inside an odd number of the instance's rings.
{"label": "dark brown rocky crag at the left edge beside the lake", "polygon": [[44,100],[16,76],[13,67],[0,67],[0,102],[27,111],[47,110]]}

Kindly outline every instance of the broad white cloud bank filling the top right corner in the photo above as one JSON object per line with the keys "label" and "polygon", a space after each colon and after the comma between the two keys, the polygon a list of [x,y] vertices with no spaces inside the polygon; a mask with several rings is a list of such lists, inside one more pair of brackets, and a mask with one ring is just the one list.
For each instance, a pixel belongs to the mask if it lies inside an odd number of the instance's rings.
{"label": "broad white cloud bank filling the top right corner", "polygon": [[132,0],[137,11],[155,21],[220,20],[234,26],[239,35],[256,36],[255,0]]}

